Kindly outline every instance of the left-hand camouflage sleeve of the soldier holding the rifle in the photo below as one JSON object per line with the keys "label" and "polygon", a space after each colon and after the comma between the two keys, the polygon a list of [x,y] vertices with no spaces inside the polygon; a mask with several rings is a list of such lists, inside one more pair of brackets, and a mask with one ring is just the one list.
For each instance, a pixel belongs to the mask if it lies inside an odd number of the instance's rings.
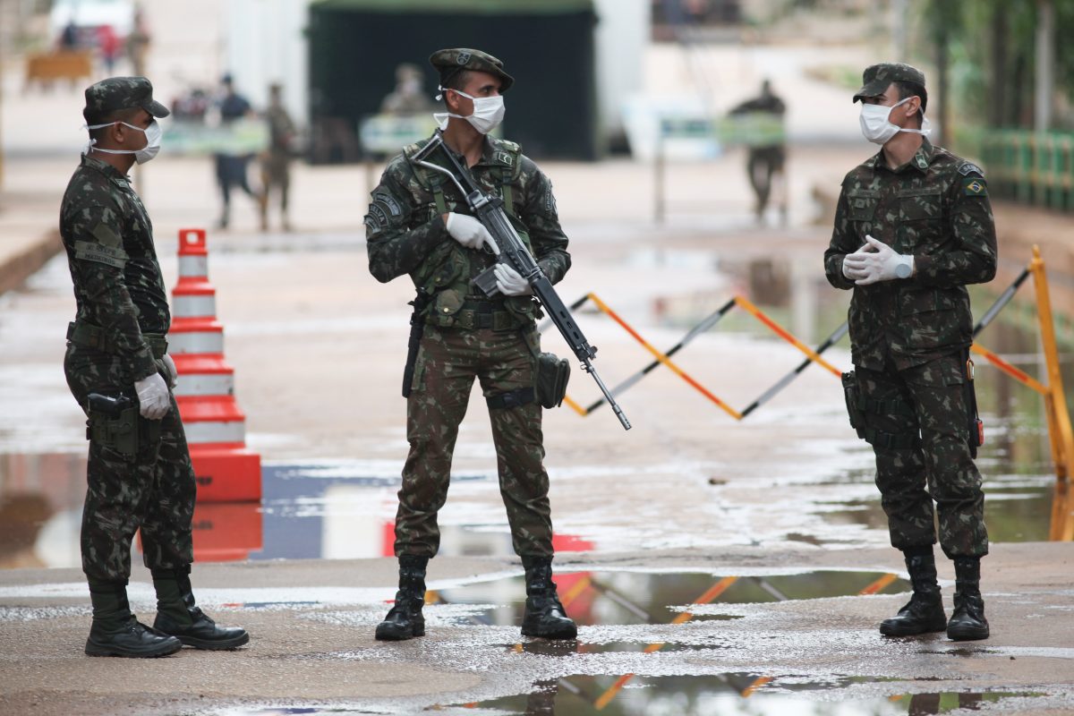
{"label": "left-hand camouflage sleeve of the soldier holding the rifle", "polygon": [[410,192],[401,186],[395,171],[394,163],[384,171],[365,215],[369,273],[381,283],[409,274],[440,242],[450,238],[439,214],[426,221],[416,216]]}

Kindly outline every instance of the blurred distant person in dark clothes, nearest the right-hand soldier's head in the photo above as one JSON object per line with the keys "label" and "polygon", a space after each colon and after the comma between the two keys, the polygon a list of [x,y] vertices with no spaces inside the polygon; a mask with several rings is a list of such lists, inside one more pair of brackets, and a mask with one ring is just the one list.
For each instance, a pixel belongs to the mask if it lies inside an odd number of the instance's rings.
{"label": "blurred distant person in dark clothes, nearest the right-hand soldier's head", "polygon": [[754,205],[757,221],[765,218],[774,179],[780,194],[780,220],[784,224],[787,222],[786,178],[783,172],[787,150],[784,146],[782,128],[785,112],[786,105],[772,92],[772,85],[768,79],[761,83],[759,97],[746,100],[730,112],[731,116],[742,117],[745,121],[752,119],[757,125],[755,128],[748,128],[746,131],[753,138],[750,141],[745,162],[750,186],[753,187],[753,193],[757,198]]}

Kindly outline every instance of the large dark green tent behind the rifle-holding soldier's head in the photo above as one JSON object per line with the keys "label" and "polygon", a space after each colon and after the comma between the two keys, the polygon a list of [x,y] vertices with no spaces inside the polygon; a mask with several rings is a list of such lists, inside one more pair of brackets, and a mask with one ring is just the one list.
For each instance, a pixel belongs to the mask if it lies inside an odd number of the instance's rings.
{"label": "large dark green tent behind the rifle-holding soldier's head", "polygon": [[[595,159],[593,0],[317,0],[309,8],[315,161],[354,159],[360,118],[376,114],[395,68],[444,47],[495,55],[514,76],[503,135],[532,157]],[[349,134],[348,134],[349,133]],[[317,134],[320,134],[318,138]]]}

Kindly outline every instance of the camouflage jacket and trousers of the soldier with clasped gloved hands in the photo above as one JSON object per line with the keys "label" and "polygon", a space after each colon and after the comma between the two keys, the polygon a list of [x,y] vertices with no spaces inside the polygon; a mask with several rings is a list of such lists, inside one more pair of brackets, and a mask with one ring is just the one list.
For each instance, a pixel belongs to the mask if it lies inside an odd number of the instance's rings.
{"label": "camouflage jacket and trousers of the soldier with clasped gloved hands", "polygon": [[[843,258],[866,234],[913,254],[914,275],[855,286]],[[944,553],[988,553],[981,473],[968,444],[963,383],[973,320],[966,284],[991,280],[996,259],[981,169],[928,140],[903,166],[888,169],[881,151],[843,179],[825,273],[836,288],[854,289],[851,348],[871,408],[867,439],[891,544],[903,551],[935,543],[935,500]]]}

